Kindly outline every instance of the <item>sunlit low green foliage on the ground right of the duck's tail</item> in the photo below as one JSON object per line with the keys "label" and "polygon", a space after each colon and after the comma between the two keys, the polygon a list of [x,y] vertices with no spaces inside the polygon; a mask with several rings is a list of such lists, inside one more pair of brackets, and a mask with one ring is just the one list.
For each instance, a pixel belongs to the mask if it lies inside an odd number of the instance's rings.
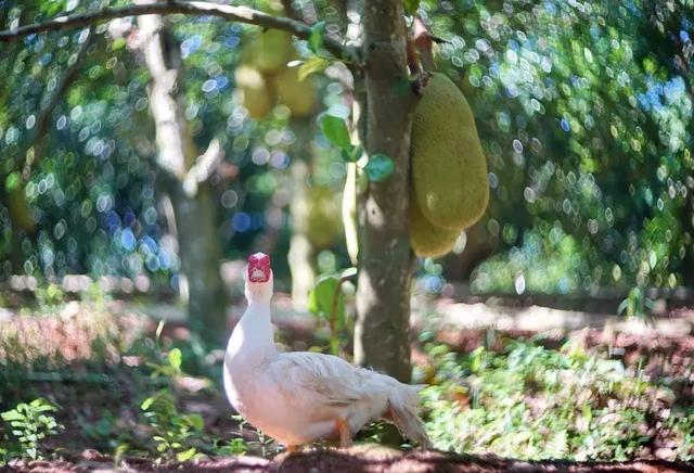
{"label": "sunlit low green foliage on the ground right of the duck's tail", "polygon": [[[435,385],[423,392],[427,431],[438,448],[459,452],[630,459],[652,439],[656,399],[671,397],[643,372],[570,345],[556,351],[511,341],[500,353],[478,347],[463,356],[428,345],[428,354]],[[668,422],[686,436],[690,416]],[[693,448],[689,440],[681,452]]]}

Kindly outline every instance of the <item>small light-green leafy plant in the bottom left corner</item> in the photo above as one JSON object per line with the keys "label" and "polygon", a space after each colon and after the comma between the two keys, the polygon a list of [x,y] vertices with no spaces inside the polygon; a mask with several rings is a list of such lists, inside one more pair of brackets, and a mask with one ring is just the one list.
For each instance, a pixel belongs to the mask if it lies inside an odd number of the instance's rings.
{"label": "small light-green leafy plant in the bottom left corner", "polygon": [[[49,435],[57,434],[62,426],[50,416],[57,408],[38,398],[31,402],[21,402],[14,409],[2,412],[0,417],[12,427],[14,438],[10,438],[10,448],[0,450],[0,459],[28,457],[31,460],[42,458],[40,443]],[[12,447],[13,442],[16,448]]]}

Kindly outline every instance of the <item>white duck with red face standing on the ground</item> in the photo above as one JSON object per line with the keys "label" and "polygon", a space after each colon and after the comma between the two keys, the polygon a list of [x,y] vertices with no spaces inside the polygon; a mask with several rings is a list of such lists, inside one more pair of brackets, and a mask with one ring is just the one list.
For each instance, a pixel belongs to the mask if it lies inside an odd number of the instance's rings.
{"label": "white duck with red face standing on the ground", "polygon": [[391,420],[412,442],[428,445],[416,414],[422,386],[356,368],[332,355],[280,353],[270,323],[270,257],[256,253],[245,274],[248,308],[224,356],[224,391],[250,424],[287,446],[290,452],[319,439],[343,448],[367,423]]}

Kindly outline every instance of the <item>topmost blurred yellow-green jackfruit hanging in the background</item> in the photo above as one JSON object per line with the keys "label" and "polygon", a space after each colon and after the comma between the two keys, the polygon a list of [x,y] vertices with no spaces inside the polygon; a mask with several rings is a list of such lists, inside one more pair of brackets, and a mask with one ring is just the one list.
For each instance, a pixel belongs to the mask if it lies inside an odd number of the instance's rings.
{"label": "topmost blurred yellow-green jackfruit hanging in the background", "polygon": [[273,74],[296,55],[292,35],[268,29],[256,36],[245,50],[245,61],[264,74]]}

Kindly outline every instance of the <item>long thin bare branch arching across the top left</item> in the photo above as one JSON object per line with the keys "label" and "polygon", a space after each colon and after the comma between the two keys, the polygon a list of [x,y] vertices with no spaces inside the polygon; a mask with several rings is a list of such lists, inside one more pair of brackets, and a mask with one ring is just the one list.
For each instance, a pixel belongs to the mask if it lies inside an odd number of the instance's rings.
{"label": "long thin bare branch arching across the top left", "polygon": [[[284,16],[270,15],[247,7],[234,7],[206,1],[167,0],[146,4],[103,8],[92,12],[57,16],[43,23],[34,23],[12,29],[5,29],[0,31],[0,42],[12,41],[43,31],[92,25],[106,20],[147,14],[168,15],[174,13],[182,13],[191,16],[219,16],[231,22],[246,23],[249,25],[261,26],[264,28],[282,29],[300,39],[308,39],[311,33],[311,28],[305,23]],[[359,63],[357,51],[345,47],[339,40],[325,37],[324,46],[325,49],[338,59]]]}

